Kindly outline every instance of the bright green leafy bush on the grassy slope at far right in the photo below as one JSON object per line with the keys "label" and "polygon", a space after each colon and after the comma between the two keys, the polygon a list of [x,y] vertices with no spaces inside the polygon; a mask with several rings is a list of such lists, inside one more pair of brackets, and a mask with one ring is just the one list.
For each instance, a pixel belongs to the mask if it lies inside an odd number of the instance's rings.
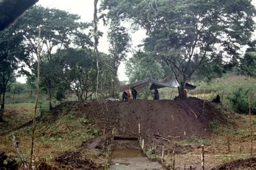
{"label": "bright green leafy bush on the grassy slope at far right", "polygon": [[[250,89],[242,89],[242,87],[238,88],[237,90],[232,91],[227,96],[227,99],[232,103],[232,108],[234,111],[238,113],[247,113],[248,112],[248,94]],[[253,103],[252,108],[256,109]]]}

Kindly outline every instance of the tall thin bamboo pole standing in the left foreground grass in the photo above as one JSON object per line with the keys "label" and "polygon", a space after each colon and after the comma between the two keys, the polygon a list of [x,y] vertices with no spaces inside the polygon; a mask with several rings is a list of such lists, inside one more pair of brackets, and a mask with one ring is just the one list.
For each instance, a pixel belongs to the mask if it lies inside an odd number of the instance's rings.
{"label": "tall thin bamboo pole standing in the left foreground grass", "polygon": [[40,62],[41,62],[40,38],[41,38],[41,27],[39,27],[39,30],[38,30],[36,104],[35,104],[35,111],[34,111],[34,116],[33,116],[33,128],[32,128],[29,168],[32,168],[33,147],[34,147],[34,138],[35,138],[35,129],[36,129],[36,111],[37,111],[37,104],[38,104],[38,100],[39,100],[39,80],[40,80]]}

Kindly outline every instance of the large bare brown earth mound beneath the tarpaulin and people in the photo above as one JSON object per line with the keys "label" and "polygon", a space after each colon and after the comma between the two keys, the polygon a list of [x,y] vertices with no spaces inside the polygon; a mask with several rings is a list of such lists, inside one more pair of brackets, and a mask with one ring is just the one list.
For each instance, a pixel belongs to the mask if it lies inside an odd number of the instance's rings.
{"label": "large bare brown earth mound beneath the tarpaulin and people", "polygon": [[116,135],[138,137],[138,124],[142,137],[159,134],[165,137],[186,138],[192,134],[207,137],[210,134],[208,124],[217,121],[227,123],[227,118],[214,104],[198,98],[186,100],[137,100],[128,103],[106,102],[99,104],[77,103],[77,111],[94,118],[100,128],[117,129]]}

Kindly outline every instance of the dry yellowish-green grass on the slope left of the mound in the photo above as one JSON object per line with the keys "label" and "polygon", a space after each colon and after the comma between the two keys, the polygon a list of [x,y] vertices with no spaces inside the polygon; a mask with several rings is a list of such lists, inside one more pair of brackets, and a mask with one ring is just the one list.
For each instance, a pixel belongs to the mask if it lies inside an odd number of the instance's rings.
{"label": "dry yellowish-green grass on the slope left of the mound", "polygon": [[[32,103],[7,104],[6,112],[12,114],[5,116],[8,123],[0,126],[1,132],[11,130],[12,127],[32,119],[33,108],[34,104]],[[15,116],[13,116],[14,113]],[[50,161],[62,152],[76,150],[82,141],[98,135],[97,127],[87,117],[83,115],[77,117],[75,114],[74,112],[64,112],[55,122],[39,122],[36,124],[35,154],[37,157]],[[50,115],[46,114],[45,116]],[[16,134],[21,152],[28,159],[31,147],[31,126],[12,132]],[[0,148],[6,154],[15,158],[17,154],[12,145],[11,133],[2,136],[0,134]]]}

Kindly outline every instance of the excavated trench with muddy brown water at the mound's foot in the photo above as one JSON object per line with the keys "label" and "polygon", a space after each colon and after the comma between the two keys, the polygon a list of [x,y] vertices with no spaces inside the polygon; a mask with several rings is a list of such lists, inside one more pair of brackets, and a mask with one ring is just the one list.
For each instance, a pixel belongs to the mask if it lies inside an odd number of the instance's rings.
{"label": "excavated trench with muddy brown water at the mound's foot", "polygon": [[110,169],[164,169],[156,161],[143,156],[138,141],[116,140],[112,153]]}

